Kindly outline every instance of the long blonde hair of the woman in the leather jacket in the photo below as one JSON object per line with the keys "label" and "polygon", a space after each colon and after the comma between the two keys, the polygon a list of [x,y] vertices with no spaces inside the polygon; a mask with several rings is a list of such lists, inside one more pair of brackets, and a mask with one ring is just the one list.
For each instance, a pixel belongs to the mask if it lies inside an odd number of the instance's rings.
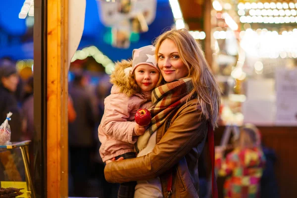
{"label": "long blonde hair of the woman in the leather jacket", "polygon": [[194,89],[190,93],[190,100],[198,98],[202,114],[210,121],[213,127],[217,126],[221,90],[210,67],[208,66],[200,45],[186,29],[172,29],[161,34],[155,41],[156,57],[163,41],[173,41],[178,49],[183,63],[189,70],[188,77],[192,78]]}

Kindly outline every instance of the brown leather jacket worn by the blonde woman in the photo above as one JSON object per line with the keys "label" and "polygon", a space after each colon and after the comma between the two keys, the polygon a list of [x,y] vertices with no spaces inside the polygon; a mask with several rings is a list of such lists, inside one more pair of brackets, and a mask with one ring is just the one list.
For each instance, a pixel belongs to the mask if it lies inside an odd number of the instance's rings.
{"label": "brown leather jacket worn by the blonde woman", "polygon": [[157,144],[152,152],[107,164],[106,181],[123,183],[160,177],[163,196],[167,198],[166,171],[172,171],[171,198],[198,198],[198,158],[207,137],[207,121],[204,116],[200,117],[199,109],[197,99],[181,106],[169,128],[166,120],[157,130]]}

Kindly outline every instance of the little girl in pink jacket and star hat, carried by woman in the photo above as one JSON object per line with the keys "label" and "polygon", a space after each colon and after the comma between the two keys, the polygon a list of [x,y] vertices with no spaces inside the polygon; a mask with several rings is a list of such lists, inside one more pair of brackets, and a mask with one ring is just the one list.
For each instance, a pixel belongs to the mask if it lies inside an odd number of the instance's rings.
{"label": "little girl in pink jacket and star hat, carried by woman", "polygon": [[[145,127],[134,122],[138,109],[151,106],[151,91],[161,81],[155,60],[155,48],[134,49],[132,61],[123,60],[110,76],[111,94],[104,99],[104,114],[98,128],[100,156],[103,162],[136,157],[134,143]],[[133,198],[136,182],[123,183],[118,198]]]}

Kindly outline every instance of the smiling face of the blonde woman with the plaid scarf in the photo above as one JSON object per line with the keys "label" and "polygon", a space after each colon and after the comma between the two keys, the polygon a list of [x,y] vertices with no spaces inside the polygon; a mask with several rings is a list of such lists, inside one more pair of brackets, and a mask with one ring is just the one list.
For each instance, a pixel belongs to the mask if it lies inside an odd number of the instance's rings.
{"label": "smiling face of the blonde woman with the plaid scarf", "polygon": [[182,61],[175,43],[166,39],[158,51],[158,67],[166,82],[172,82],[188,76],[189,70]]}

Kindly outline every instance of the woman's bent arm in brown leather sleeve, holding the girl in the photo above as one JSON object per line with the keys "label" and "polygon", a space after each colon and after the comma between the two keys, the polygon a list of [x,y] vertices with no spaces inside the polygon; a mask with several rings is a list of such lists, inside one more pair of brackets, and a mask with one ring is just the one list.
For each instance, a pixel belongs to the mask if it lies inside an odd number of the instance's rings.
{"label": "woman's bent arm in brown leather sleeve, holding the girl", "polygon": [[189,101],[188,106],[183,105],[151,153],[107,164],[104,169],[106,181],[123,183],[148,180],[169,170],[205,140],[207,124],[205,120],[199,120],[200,115],[196,100]]}

